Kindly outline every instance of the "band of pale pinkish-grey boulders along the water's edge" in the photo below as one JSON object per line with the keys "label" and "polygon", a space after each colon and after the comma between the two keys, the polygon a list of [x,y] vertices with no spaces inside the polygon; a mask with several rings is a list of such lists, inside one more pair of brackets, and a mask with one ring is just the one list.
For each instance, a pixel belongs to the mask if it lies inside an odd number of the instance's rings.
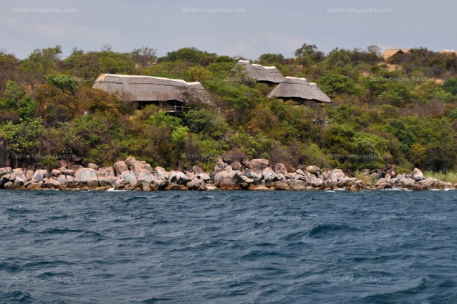
{"label": "band of pale pinkish-grey boulders along the water's edge", "polygon": [[0,168],[0,189],[13,190],[70,190],[105,191],[136,190],[333,190],[347,189],[408,189],[415,191],[429,189],[457,189],[457,184],[424,177],[423,172],[414,169],[411,174],[397,174],[392,165],[388,170],[363,170],[373,184],[366,184],[355,177],[345,175],[340,169],[321,171],[309,165],[300,166],[288,172],[285,165],[278,163],[270,167],[269,160],[253,159],[228,165],[220,158],[211,173],[193,166],[189,171],[169,171],[163,167],[154,169],[146,162],[129,157],[119,160],[111,167],[98,167],[94,163],[67,163],[60,160],[58,169],[37,169],[11,167]]}

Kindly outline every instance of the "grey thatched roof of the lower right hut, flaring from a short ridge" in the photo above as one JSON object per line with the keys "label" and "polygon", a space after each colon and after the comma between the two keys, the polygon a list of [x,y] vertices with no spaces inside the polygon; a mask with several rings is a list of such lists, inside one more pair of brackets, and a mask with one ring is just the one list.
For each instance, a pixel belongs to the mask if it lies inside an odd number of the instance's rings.
{"label": "grey thatched roof of the lower right hut, flaring from a short ridge", "polygon": [[283,82],[278,84],[267,97],[277,97],[279,99],[292,99],[300,101],[315,101],[318,103],[330,103],[332,100],[327,96],[317,84],[309,83],[304,78],[285,77]]}

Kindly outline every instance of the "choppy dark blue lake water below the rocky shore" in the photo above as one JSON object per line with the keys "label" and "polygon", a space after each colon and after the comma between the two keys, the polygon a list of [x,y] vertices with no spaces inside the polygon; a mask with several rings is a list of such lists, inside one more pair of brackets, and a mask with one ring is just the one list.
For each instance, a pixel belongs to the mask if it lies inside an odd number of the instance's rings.
{"label": "choppy dark blue lake water below the rocky shore", "polygon": [[1,303],[457,303],[457,191],[0,191]]}

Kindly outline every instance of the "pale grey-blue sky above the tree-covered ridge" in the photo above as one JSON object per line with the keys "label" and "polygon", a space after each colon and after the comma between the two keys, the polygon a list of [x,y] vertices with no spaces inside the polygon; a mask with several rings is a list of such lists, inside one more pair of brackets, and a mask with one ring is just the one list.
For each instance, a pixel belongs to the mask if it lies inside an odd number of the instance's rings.
{"label": "pale grey-blue sky above the tree-covered ridge", "polygon": [[[63,10],[69,10],[64,12]],[[377,44],[382,49],[457,49],[457,1],[12,1],[0,2],[0,49],[25,58],[59,44],[113,51],[141,46],[159,56],[185,46],[256,59],[316,44],[328,52]]]}

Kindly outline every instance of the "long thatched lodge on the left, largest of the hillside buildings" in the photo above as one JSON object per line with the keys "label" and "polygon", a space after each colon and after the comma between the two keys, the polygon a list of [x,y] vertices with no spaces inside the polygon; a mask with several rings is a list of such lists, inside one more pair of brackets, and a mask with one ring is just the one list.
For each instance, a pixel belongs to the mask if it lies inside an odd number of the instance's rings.
{"label": "long thatched lodge on the left, largest of the hillside buildings", "polygon": [[139,106],[156,104],[165,106],[170,111],[181,111],[190,101],[212,105],[200,82],[153,76],[101,74],[92,87],[111,94],[116,91],[125,94],[138,102]]}

